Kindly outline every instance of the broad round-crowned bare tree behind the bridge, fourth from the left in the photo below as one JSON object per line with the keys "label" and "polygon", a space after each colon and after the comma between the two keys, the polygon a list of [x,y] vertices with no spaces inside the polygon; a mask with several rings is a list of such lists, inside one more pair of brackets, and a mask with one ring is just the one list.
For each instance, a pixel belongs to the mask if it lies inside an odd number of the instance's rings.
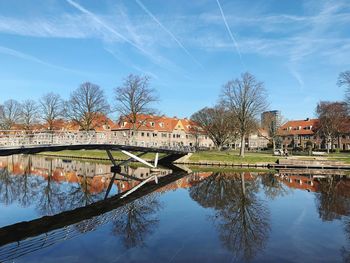
{"label": "broad round-crowned bare tree behind the bridge, fourth from the left", "polygon": [[90,131],[96,126],[99,114],[107,114],[109,105],[103,90],[90,82],[85,82],[72,92],[68,115],[81,129]]}

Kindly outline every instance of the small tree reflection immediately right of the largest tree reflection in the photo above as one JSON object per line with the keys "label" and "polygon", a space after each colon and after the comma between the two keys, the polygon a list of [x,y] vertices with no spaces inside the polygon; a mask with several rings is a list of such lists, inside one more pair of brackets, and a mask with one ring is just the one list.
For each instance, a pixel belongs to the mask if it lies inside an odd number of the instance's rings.
{"label": "small tree reflection immediately right of the largest tree reflection", "polygon": [[289,192],[287,187],[272,173],[262,175],[261,183],[263,185],[265,195],[270,200],[274,200],[279,196],[285,196]]}

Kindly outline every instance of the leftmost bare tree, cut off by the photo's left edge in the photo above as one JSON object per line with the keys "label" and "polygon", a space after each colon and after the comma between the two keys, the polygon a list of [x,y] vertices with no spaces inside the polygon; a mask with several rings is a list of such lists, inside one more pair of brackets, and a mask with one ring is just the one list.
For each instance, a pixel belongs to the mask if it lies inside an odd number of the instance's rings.
{"label": "leftmost bare tree, cut off by the photo's left edge", "polygon": [[21,104],[16,100],[7,100],[2,105],[0,113],[2,129],[10,130],[21,118]]}

